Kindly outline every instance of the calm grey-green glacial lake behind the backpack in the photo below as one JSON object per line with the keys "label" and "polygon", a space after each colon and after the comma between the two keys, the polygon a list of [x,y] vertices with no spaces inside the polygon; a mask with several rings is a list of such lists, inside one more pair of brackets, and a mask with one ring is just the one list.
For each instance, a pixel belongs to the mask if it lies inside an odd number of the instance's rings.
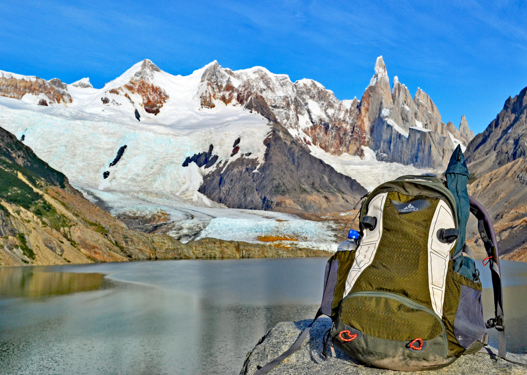
{"label": "calm grey-green glacial lake behind the backpack", "polygon": [[[0,268],[0,373],[238,374],[247,352],[277,322],[313,318],[326,261]],[[508,351],[524,353],[527,263],[501,266]],[[490,271],[480,269],[488,319]]]}

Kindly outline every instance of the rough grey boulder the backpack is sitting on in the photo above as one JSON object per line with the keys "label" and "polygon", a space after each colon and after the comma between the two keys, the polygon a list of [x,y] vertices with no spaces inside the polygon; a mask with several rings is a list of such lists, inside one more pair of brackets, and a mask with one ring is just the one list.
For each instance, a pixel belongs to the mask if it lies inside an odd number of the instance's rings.
{"label": "rough grey boulder the backpack is sitting on", "polygon": [[[298,322],[281,322],[271,328],[260,342],[247,354],[240,375],[252,375],[258,370],[258,366],[274,360],[282,352],[289,349],[300,335],[300,332],[308,326],[310,320]],[[337,357],[328,357],[326,360],[322,352],[322,338],[324,332],[331,328],[331,320],[320,318],[310,331],[309,338],[289,358],[278,364],[269,372],[269,375],[335,375],[335,374],[396,374],[399,371],[377,369],[370,366],[362,366],[356,360],[350,359],[343,351],[335,348]],[[508,358],[520,362],[527,362],[527,354],[511,354]],[[416,373],[416,372],[406,372]],[[526,367],[518,366],[502,359],[496,359],[487,354],[470,354],[462,356],[450,366],[434,370],[421,371],[421,374],[525,374]]]}

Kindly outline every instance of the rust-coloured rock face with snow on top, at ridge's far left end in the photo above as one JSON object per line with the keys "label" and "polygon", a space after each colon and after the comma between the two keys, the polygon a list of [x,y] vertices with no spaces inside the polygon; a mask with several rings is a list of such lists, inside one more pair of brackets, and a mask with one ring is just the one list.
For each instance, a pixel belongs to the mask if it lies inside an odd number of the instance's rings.
{"label": "rust-coloured rock face with snow on top, at ridge's far left end", "polygon": [[[47,100],[45,100],[47,103],[41,105],[72,103],[72,98],[70,94],[67,93],[67,86],[63,84],[60,79],[54,78],[48,82],[38,77],[26,78],[17,78],[0,74],[0,95],[8,98],[22,99],[25,94],[32,94],[35,96],[42,94],[47,98]],[[41,103],[45,102],[42,102],[41,100]]]}

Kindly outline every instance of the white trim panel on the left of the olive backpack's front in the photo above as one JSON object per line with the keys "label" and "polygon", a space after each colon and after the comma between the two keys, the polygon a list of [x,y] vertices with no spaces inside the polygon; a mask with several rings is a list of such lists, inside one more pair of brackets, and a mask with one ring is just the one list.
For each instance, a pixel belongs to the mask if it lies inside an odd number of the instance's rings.
{"label": "white trim panel on the left of the olive backpack's front", "polygon": [[364,229],[364,238],[360,240],[360,246],[355,253],[353,266],[349,270],[348,278],[346,279],[344,297],[352,290],[360,274],[373,262],[380,238],[383,235],[383,208],[387,194],[387,192],[378,194],[369,202],[366,215],[376,217],[377,225],[374,230]]}

